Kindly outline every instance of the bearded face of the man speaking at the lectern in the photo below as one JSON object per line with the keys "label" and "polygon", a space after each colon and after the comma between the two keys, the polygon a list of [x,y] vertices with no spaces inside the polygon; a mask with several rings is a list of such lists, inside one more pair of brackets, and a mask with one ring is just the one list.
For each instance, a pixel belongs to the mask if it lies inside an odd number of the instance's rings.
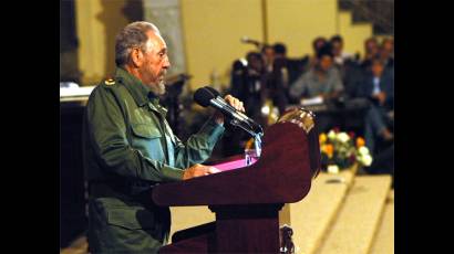
{"label": "bearded face of the man speaking at the lectern", "polygon": [[138,73],[142,83],[148,86],[156,95],[165,94],[164,77],[167,68],[171,67],[171,62],[167,56],[167,45],[162,36],[153,31],[147,33],[148,41],[145,45],[145,51],[142,52]]}

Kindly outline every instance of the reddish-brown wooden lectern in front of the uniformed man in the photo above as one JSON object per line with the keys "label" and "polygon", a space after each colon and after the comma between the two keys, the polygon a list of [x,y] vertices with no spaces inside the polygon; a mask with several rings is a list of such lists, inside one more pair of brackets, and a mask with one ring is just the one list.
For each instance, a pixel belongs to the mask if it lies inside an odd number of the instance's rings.
{"label": "reddish-brown wooden lectern in front of the uniformed man", "polygon": [[216,213],[213,223],[176,232],[159,253],[279,253],[278,212],[308,194],[319,168],[313,115],[285,114],[265,131],[254,165],[155,187],[158,205],[208,205]]}

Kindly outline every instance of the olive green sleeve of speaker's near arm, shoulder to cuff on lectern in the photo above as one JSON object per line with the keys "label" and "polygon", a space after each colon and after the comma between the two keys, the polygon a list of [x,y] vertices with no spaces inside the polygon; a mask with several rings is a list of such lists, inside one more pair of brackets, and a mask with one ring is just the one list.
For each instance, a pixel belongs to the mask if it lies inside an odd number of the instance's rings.
{"label": "olive green sleeve of speaker's near arm, shoulder to cuff on lectern", "polygon": [[146,158],[130,146],[118,100],[111,87],[100,85],[86,106],[89,140],[101,166],[130,178],[157,182],[182,180],[182,169]]}

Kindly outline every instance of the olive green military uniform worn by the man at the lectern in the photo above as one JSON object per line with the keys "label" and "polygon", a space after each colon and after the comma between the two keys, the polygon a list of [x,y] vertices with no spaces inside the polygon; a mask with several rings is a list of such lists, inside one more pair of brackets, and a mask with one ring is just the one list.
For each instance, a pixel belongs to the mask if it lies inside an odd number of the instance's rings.
{"label": "olive green military uniform worn by the man at the lectern", "polygon": [[156,253],[167,242],[168,208],[152,201],[153,186],[182,180],[184,169],[210,156],[224,127],[208,120],[183,144],[166,109],[123,68],[93,89],[84,124],[92,253]]}

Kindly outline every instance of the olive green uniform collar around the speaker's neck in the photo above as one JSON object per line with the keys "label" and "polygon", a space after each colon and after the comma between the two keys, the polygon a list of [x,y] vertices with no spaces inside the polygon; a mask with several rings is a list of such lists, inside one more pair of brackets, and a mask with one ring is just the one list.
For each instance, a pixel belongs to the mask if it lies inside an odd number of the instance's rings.
{"label": "olive green uniform collar around the speaker's neck", "polygon": [[153,105],[158,104],[159,98],[126,70],[117,67],[115,71],[115,80],[121,82],[127,88],[138,106],[144,106],[148,102]]}

